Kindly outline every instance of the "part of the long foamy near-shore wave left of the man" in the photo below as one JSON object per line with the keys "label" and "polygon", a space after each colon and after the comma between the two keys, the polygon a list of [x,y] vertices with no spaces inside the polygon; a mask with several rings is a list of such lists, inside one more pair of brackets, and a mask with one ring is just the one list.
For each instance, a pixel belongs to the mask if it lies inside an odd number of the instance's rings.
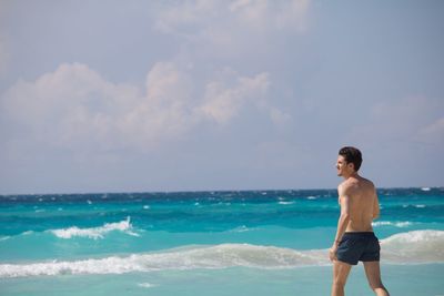
{"label": "part of the long foamy near-shore wave left of the man", "polygon": [[171,252],[132,254],[74,262],[42,262],[32,264],[0,264],[0,278],[63,275],[63,274],[124,274],[168,269],[220,269],[233,266],[255,268],[289,268],[327,264],[326,252],[299,252],[274,246],[222,244],[193,246]]}

